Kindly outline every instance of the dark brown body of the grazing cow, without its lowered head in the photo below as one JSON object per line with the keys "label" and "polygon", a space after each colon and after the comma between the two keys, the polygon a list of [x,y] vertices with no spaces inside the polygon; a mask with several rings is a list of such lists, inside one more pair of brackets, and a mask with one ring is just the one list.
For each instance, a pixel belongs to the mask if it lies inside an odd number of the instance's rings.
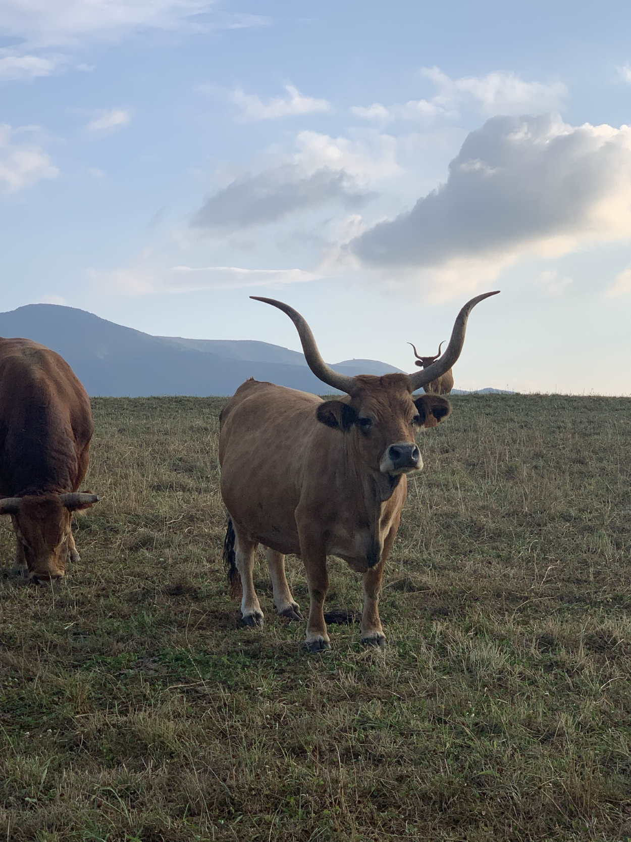
{"label": "dark brown body of the grazing cow, without its lowered head", "polygon": [[0,493],[76,490],[92,434],[89,398],[66,360],[0,338]]}

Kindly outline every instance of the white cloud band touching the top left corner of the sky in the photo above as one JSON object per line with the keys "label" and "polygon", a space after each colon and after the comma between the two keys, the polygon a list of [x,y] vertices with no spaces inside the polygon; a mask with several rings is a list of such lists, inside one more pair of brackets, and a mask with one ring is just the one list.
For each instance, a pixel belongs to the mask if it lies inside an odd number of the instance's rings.
{"label": "white cloud band touching the top left corner of the sky", "polygon": [[4,37],[32,45],[83,46],[87,40],[120,40],[151,29],[241,29],[267,22],[258,15],[214,10],[214,0],[3,0],[0,29]]}

